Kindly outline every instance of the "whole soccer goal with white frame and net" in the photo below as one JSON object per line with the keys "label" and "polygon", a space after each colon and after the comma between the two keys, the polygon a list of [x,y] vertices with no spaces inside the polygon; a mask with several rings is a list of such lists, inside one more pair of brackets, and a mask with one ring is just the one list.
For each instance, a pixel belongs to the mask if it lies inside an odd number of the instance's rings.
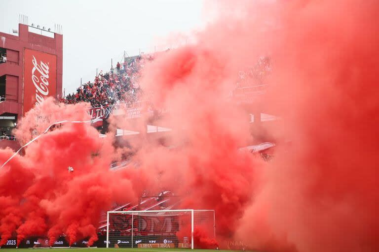
{"label": "whole soccer goal with white frame and net", "polygon": [[199,248],[216,239],[214,210],[109,211],[107,248]]}

